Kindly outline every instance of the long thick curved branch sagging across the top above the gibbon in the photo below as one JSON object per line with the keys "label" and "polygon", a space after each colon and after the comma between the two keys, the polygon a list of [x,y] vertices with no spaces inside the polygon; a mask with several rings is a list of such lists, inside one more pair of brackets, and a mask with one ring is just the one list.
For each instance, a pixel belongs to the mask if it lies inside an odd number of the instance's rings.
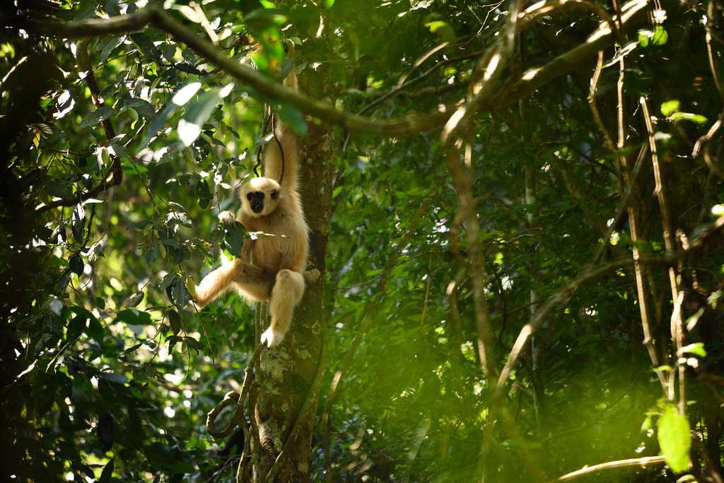
{"label": "long thick curved branch sagging across the top above the gibbon", "polygon": [[[544,5],[545,4],[542,4],[541,8],[543,8]],[[623,5],[623,15],[620,19],[621,25],[631,20],[633,15],[640,12],[646,5],[647,0],[632,0]],[[530,12],[529,14],[534,15],[534,12]],[[519,22],[522,20],[523,19],[518,19]],[[119,17],[81,20],[78,22],[30,20],[5,15],[0,17],[0,25],[12,25],[41,35],[69,39],[128,33],[141,30],[147,25],[154,25],[173,35],[177,40],[185,43],[189,48],[202,56],[203,59],[215,64],[236,80],[253,87],[258,93],[276,101],[290,103],[305,114],[314,116],[329,124],[337,124],[350,132],[376,134],[386,137],[415,134],[442,127],[447,119],[450,118],[452,112],[455,111],[455,106],[440,106],[437,111],[429,114],[409,114],[403,118],[389,121],[382,121],[341,111],[329,103],[317,101],[316,99],[299,93],[297,90],[284,87],[280,83],[269,79],[269,77],[266,77],[264,74],[240,64],[208,40],[197,37],[180,22],[174,20],[170,14],[153,6],[140,9],[133,14]],[[635,25],[633,26],[635,27]],[[537,69],[529,69],[529,71],[524,72],[518,79],[508,80],[507,83],[510,87],[504,88],[502,92],[496,93],[494,99],[490,99],[492,96],[487,96],[487,99],[479,99],[476,101],[479,103],[479,106],[476,106],[476,111],[489,111],[509,106],[510,103],[517,101],[518,98],[531,94],[534,90],[542,87],[542,85],[569,72],[576,67],[579,62],[592,56],[602,48],[610,46],[614,40],[615,35],[609,27],[599,28],[585,43],[573,48],[566,54],[558,56],[549,64]]]}

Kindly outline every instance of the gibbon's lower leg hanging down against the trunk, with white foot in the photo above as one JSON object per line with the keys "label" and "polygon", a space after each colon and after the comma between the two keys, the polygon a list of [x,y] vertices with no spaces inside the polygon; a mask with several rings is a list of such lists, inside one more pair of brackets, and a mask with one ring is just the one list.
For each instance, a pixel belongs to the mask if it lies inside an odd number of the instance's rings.
{"label": "gibbon's lower leg hanging down against the trunk, with white foot", "polygon": [[276,347],[285,338],[292,324],[294,307],[304,295],[304,277],[292,270],[279,270],[277,281],[271,289],[271,325],[261,334],[261,343]]}

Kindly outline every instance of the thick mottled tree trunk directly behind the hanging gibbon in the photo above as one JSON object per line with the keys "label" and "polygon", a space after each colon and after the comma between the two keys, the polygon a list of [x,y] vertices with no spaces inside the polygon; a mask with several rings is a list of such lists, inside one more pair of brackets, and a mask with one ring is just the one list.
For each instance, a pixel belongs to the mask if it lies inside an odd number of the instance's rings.
{"label": "thick mottled tree trunk directly behind the hanging gibbon", "polygon": [[[321,82],[320,72],[301,75],[300,84],[301,90],[314,98],[322,98],[322,90],[329,85]],[[256,427],[253,428],[258,433],[258,444],[252,446],[253,458],[258,461],[255,476],[261,482],[265,481],[282,448],[285,454],[273,470],[272,481],[311,481],[309,459],[319,384],[313,386],[323,374],[325,364],[321,358],[326,327],[322,300],[324,256],[332,216],[334,145],[330,127],[309,120],[308,126],[306,137],[299,139],[300,195],[310,231],[307,270],[319,270],[320,276],[316,281],[307,282],[287,340],[276,349],[261,353],[254,411]],[[311,399],[307,401],[308,398]],[[256,437],[253,439],[256,443]]]}

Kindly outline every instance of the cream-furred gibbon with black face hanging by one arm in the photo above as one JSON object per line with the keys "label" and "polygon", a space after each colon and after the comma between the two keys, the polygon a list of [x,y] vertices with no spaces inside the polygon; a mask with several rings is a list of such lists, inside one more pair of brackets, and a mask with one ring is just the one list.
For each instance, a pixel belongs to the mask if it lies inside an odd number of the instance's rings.
{"label": "cream-furred gibbon with black face hanging by one arm", "polygon": [[[294,69],[285,85],[297,88]],[[261,335],[261,343],[269,348],[278,346],[287,335],[294,307],[304,294],[302,273],[309,247],[308,227],[297,190],[297,140],[292,130],[281,123],[273,129],[279,142],[272,138],[266,145],[266,176],[243,184],[241,208],[236,217],[228,211],[219,214],[220,221],[234,223],[236,219],[248,231],[258,232],[258,237],[245,239],[241,254],[206,275],[193,294],[199,307],[230,288],[236,288],[249,302],[269,300],[271,325]]]}

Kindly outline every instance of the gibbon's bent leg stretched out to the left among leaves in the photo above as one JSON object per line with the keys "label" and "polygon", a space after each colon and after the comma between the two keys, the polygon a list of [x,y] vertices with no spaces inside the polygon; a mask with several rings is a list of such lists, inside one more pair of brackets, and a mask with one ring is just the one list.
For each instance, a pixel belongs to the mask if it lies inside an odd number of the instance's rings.
{"label": "gibbon's bent leg stretched out to the left among leaves", "polygon": [[235,258],[206,275],[195,288],[193,299],[204,307],[230,288],[237,288],[253,302],[269,299],[274,279],[263,270]]}

